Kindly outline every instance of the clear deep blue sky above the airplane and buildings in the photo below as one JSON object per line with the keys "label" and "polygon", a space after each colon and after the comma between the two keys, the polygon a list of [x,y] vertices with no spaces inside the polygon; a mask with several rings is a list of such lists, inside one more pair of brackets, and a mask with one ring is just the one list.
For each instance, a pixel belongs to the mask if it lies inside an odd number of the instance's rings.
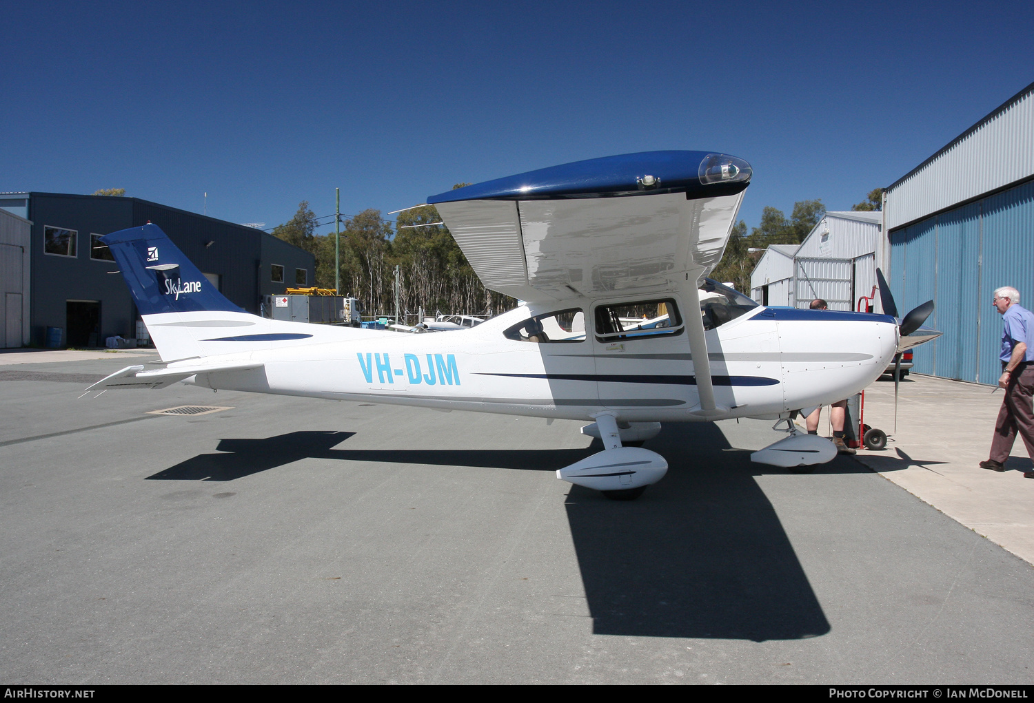
{"label": "clear deep blue sky above the airplane and buildings", "polygon": [[0,190],[233,222],[629,152],[849,210],[1034,81],[1034,3],[7,3]]}

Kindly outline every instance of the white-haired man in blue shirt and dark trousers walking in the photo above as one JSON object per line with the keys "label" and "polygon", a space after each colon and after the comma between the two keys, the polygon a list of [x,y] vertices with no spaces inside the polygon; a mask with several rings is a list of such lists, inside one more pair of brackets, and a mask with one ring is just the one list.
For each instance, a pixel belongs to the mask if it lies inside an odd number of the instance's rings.
{"label": "white-haired man in blue shirt and dark trousers walking", "polygon": [[[991,457],[980,461],[980,467],[992,471],[1005,471],[1016,433],[1027,446],[1027,453],[1034,458],[1034,315],[1020,307],[1020,293],[1008,286],[995,291],[992,305],[1002,315],[1002,376],[998,386],[1005,389],[1002,409],[995,423],[995,438],[991,442]],[[1034,471],[1024,473],[1034,478]]]}

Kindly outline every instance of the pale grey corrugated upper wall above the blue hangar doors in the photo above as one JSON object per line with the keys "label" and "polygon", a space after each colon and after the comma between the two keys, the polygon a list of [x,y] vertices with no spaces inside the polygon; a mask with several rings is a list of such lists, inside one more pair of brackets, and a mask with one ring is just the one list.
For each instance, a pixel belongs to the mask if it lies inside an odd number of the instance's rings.
{"label": "pale grey corrugated upper wall above the blue hangar doors", "polygon": [[894,229],[1034,174],[1034,84],[887,189]]}

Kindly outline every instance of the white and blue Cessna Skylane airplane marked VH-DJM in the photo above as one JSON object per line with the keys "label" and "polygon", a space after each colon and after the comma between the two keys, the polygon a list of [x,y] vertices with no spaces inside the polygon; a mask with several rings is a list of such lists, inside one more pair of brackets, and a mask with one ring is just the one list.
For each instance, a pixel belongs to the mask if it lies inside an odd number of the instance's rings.
{"label": "white and blue Cessna Skylane airplane marked VH-DJM", "polygon": [[919,328],[932,303],[905,321],[765,308],[705,279],[750,179],[750,164],[724,154],[647,152],[430,197],[485,286],[522,300],[436,334],[256,317],[212,288],[157,226],[114,232],[103,242],[165,365],[128,366],[90,390],[183,381],[587,420],[582,432],[604,450],[557,476],[615,499],[667,471],[640,446],[661,422],[779,419],[790,437],[754,460],[828,461],[832,443],[798,434],[792,412],[858,392],[896,353],[936,337]]}

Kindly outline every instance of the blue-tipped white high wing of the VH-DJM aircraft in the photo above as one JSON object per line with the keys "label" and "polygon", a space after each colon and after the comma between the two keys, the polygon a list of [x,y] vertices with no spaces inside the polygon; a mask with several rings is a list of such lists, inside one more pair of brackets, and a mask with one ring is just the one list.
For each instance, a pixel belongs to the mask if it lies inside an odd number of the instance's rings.
{"label": "blue-tipped white high wing of the VH-DJM aircraft", "polygon": [[645,152],[433,195],[487,288],[522,300],[671,291],[722,258],[751,178],[708,152]]}

